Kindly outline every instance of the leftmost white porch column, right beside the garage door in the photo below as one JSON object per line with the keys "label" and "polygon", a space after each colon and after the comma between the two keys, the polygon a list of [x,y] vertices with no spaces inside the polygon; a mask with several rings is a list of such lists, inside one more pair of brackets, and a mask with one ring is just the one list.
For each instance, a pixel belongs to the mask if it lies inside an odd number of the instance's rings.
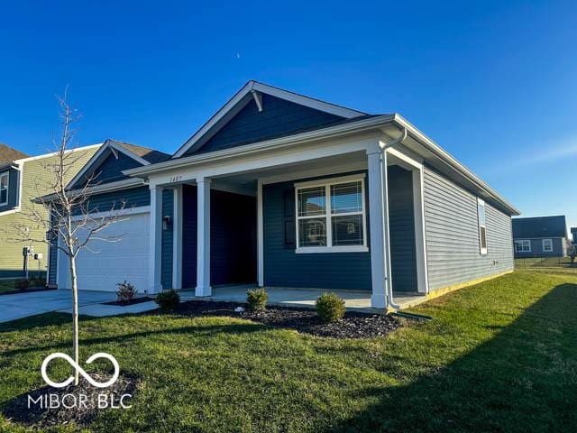
{"label": "leftmost white porch column, right beside the garage door", "polygon": [[149,236],[149,292],[162,291],[160,284],[162,246],[162,189],[151,185],[151,221]]}

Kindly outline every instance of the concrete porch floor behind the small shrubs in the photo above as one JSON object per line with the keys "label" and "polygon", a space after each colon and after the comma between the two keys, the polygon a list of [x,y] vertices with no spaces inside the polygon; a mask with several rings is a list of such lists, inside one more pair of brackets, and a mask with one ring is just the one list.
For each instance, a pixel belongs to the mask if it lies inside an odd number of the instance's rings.
{"label": "concrete porch floor behind the small shrubs", "polygon": [[[221,300],[228,302],[245,302],[246,290],[255,288],[252,284],[213,287],[212,296],[197,298],[194,290],[181,290],[180,298]],[[371,308],[371,292],[361,290],[322,290],[322,289],[295,289],[267,287],[269,304],[280,307],[303,307],[314,309],[316,299],[323,293],[334,291],[344,299],[346,309],[362,312],[382,312],[381,309]],[[393,293],[394,301],[401,309],[408,309],[426,300],[425,296],[409,293]]]}

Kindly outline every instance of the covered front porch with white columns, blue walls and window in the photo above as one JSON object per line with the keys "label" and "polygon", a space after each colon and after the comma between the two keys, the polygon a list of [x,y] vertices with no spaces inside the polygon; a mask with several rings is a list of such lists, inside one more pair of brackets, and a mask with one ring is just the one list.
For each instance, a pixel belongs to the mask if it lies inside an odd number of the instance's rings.
{"label": "covered front porch with white columns, blue walls and window", "polygon": [[364,137],[151,177],[151,293],[244,302],[266,287],[276,305],[313,307],[325,291],[348,309],[415,305],[427,292],[422,163],[383,147]]}

